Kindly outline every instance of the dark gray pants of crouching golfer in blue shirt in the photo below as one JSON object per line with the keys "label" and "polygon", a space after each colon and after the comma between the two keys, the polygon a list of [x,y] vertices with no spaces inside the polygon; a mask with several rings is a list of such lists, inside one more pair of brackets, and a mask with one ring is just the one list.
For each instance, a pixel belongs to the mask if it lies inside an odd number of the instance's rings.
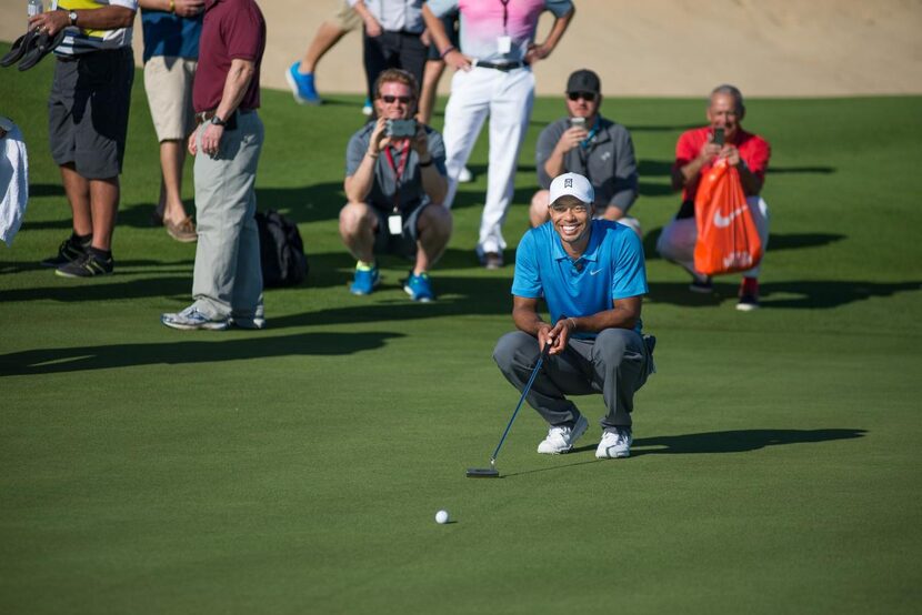
{"label": "dark gray pants of crouching golfer in blue shirt", "polygon": [[[493,360],[519,391],[534,370],[538,339],[522,331],[497,342]],[[631,426],[637,392],[652,371],[652,359],[637,331],[607,329],[594,340],[571,337],[567,350],[548,357],[525,396],[529,405],[551,425],[572,426],[580,411],[565,395],[601,393],[608,413],[602,429]]]}

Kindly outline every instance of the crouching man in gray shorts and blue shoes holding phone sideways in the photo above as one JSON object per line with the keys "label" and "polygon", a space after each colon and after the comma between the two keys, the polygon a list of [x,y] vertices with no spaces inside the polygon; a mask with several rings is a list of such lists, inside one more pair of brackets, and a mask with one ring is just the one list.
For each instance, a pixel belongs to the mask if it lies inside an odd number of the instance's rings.
{"label": "crouching man in gray shorts and blue shoes holding phone sideways", "polygon": [[374,83],[375,119],[349,140],[340,235],[358,260],[352,294],[370,294],[380,283],[375,254],[414,261],[403,290],[413,301],[433,301],[429,270],[451,238],[451,212],[442,137],[411,119],[419,85],[400,69]]}

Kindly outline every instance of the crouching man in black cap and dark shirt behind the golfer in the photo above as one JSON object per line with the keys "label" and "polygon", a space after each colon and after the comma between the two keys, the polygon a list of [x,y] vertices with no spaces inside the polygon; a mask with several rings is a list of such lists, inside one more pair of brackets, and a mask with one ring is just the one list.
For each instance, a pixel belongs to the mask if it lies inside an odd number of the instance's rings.
{"label": "crouching man in black cap and dark shirt behind the golfer", "polygon": [[548,221],[548,186],[561,173],[579,173],[592,183],[594,209],[605,220],[621,222],[640,234],[640,224],[627,215],[638,196],[638,170],[631,133],[603,118],[599,75],[578,70],[567,81],[568,117],[541,131],[534,153],[538,181],[543,186],[531,200],[532,226]]}

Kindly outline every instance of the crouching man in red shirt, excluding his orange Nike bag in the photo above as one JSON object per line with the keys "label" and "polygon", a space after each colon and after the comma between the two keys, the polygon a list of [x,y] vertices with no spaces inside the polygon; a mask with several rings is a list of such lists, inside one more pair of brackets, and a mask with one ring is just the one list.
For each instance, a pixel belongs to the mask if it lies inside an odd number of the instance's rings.
{"label": "crouching man in red shirt, excluding his orange Nike bag", "polygon": [[[758,134],[743,130],[740,123],[743,117],[745,105],[740,90],[733,85],[719,85],[711,92],[709,125],[685,131],[675,145],[672,188],[682,190],[682,205],[660,234],[657,251],[692,274],[690,290],[695,292],[709,293],[713,290],[711,279],[694,270],[694,243],[698,240],[694,196],[701,178],[718,160],[725,160],[740,172],[743,192],[759,228],[763,249],[769,243],[769,211],[759,193],[765,181],[771,148]],[[755,266],[743,272],[738,310],[751,311],[759,308],[759,269]]]}

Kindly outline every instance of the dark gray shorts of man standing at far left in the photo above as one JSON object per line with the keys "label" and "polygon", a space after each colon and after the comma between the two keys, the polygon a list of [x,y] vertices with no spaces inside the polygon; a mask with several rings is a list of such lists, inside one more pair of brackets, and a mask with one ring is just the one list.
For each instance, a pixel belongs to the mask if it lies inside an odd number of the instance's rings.
{"label": "dark gray shorts of man standing at far left", "polygon": [[54,62],[48,139],[58,165],[73,163],[88,180],[121,173],[133,80],[131,48]]}

